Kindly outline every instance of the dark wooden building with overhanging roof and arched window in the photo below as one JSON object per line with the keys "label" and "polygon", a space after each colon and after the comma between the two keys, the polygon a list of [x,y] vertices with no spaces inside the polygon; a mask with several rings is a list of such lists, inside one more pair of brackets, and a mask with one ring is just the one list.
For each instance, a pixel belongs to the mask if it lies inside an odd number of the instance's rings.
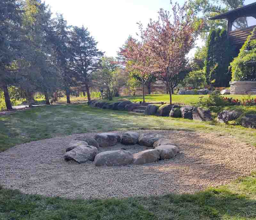
{"label": "dark wooden building with overhanging roof and arched window", "polygon": [[[248,35],[250,35],[252,30],[256,27],[256,2],[216,15],[209,19],[228,20],[228,37],[230,37],[234,45],[241,47]],[[254,38],[256,39],[256,33]]]}

